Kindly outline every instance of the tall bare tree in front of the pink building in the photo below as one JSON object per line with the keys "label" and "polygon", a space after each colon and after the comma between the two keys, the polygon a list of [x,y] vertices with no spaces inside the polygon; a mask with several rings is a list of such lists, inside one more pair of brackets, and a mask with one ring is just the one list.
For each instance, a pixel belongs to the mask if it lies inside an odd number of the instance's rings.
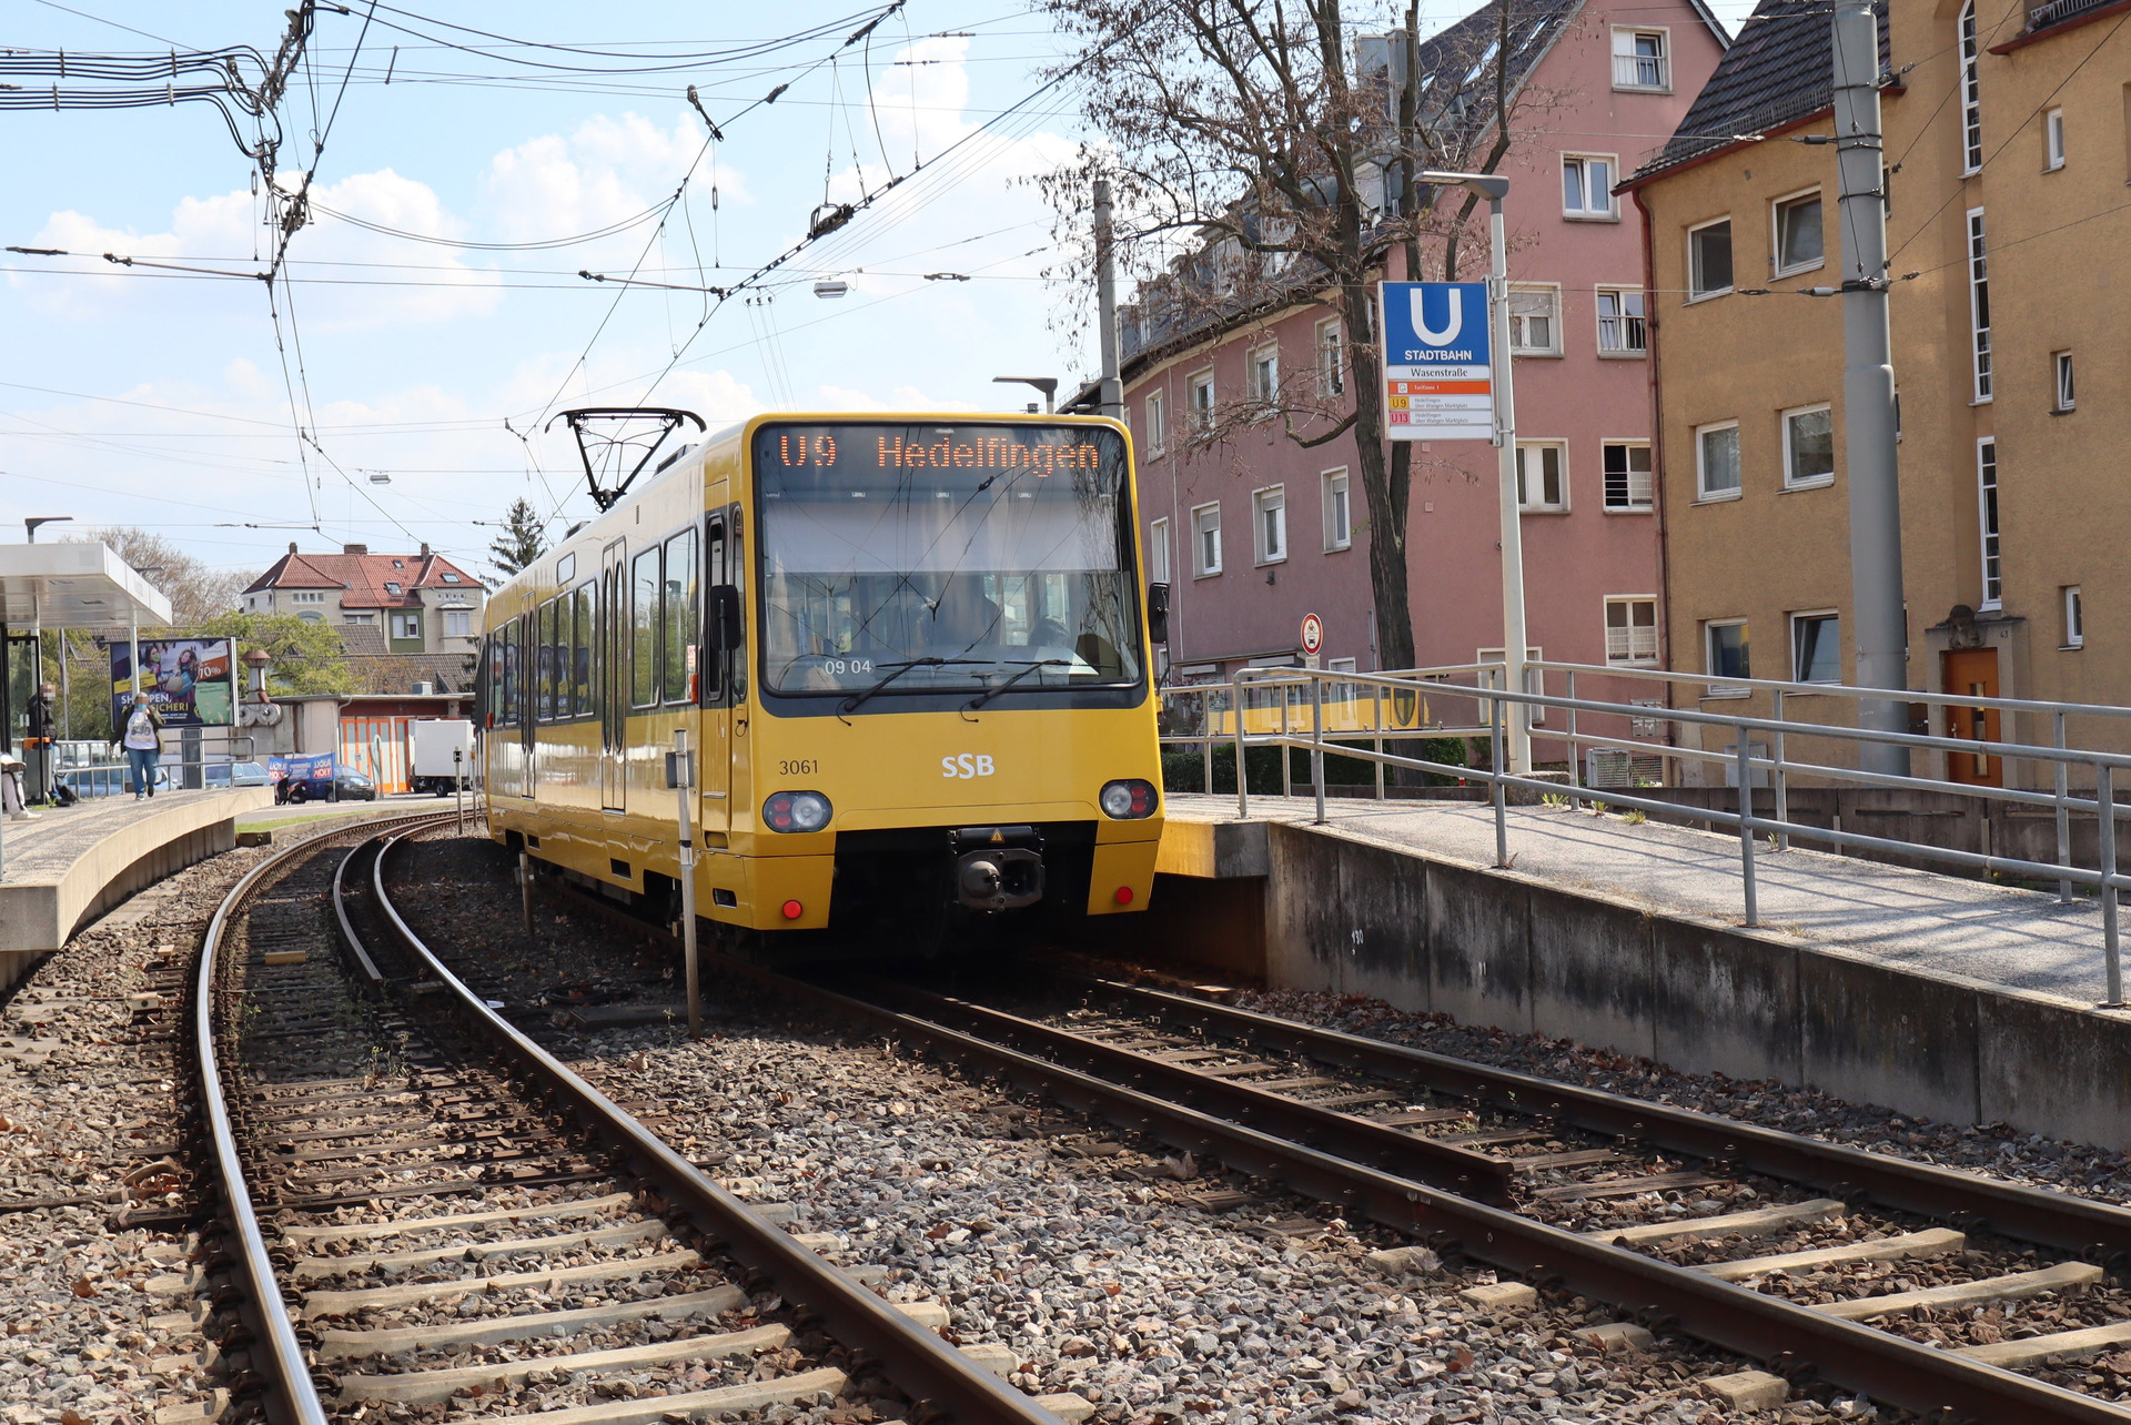
{"label": "tall bare tree in front of the pink building", "polygon": [[[1562,0],[1494,0],[1419,43],[1360,36],[1343,0],[1040,0],[1078,40],[1085,113],[1100,136],[1042,185],[1074,224],[1108,175],[1136,215],[1121,256],[1140,279],[1142,349],[1191,345],[1300,302],[1340,315],[1340,379],[1317,364],[1225,403],[1195,447],[1276,417],[1298,445],[1355,439],[1383,667],[1413,665],[1406,588],[1406,441],[1385,456],[1374,281],[1394,245],[1406,273],[1455,277],[1473,198],[1436,202],[1419,173],[1492,173],[1522,77],[1566,15]],[[1455,198],[1464,198],[1458,202]],[[1436,262],[1426,258],[1434,253]],[[1351,373],[1351,375],[1349,375]]]}

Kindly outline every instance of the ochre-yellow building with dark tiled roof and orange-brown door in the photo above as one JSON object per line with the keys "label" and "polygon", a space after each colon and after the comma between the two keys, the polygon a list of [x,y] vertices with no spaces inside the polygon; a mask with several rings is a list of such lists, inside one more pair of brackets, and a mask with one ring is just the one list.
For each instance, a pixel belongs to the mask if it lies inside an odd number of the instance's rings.
{"label": "ochre-yellow building with dark tiled roof and orange-brown door", "polygon": [[[2125,4],[1888,11],[1909,686],[2131,703]],[[1828,32],[1820,0],[1764,2],[1622,185],[1649,232],[1664,656],[1679,671],[1854,682],[1841,302],[1803,296],[1839,281]],[[1769,711],[1762,697],[1701,707]],[[1786,716],[1852,722],[1854,705],[1792,697]],[[1933,731],[2052,737],[2046,718],[1999,728],[1965,709]],[[2131,724],[2076,720],[2071,741],[2122,748]],[[2050,777],[1969,754],[1916,769]]]}

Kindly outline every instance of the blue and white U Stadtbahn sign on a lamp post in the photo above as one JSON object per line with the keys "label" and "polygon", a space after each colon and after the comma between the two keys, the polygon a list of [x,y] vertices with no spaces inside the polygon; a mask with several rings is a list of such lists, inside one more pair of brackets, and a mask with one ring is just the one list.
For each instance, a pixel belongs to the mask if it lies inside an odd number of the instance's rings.
{"label": "blue and white U Stadtbahn sign on a lamp post", "polygon": [[1487,283],[1387,281],[1383,420],[1394,441],[1492,441]]}

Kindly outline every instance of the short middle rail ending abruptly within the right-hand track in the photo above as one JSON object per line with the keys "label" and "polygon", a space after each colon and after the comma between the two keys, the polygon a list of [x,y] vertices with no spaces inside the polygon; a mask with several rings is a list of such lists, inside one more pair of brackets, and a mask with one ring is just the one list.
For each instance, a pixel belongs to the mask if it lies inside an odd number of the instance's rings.
{"label": "short middle rail ending abruptly within the right-hand track", "polygon": [[1492,1201],[1500,1208],[1507,1208],[1511,1201],[1509,1184],[1515,1180],[1515,1169],[1504,1159],[1455,1144],[1441,1144],[1417,1133],[1387,1129],[1368,1118],[1287,1099],[1238,1080],[1213,1078],[1189,1065],[1164,1063],[1149,1054],[1112,1048],[1087,1035],[1053,1029],[1051,1025],[970,1003],[967,999],[874,978],[863,978],[859,984],[867,999],[893,1003],[936,1025],[967,1029],[987,1039],[1044,1054],[1057,1063],[1070,1063],[1100,1078],[1129,1082],[1136,1088],[1161,1093],[1176,1103],[1249,1123],[1251,1127],[1291,1137],[1311,1148],[1323,1148],[1353,1163],[1374,1163],[1400,1178],[1413,1178],[1415,1182],[1426,1182],[1449,1193]]}

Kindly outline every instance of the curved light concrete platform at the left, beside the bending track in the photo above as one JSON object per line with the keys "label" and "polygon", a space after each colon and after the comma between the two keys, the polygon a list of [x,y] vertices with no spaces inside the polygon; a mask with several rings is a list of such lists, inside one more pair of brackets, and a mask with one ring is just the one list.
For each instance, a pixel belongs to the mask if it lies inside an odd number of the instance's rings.
{"label": "curved light concrete platform at the left, beside the bending track", "polygon": [[0,829],[0,988],[143,886],[237,846],[273,788],[104,797]]}

